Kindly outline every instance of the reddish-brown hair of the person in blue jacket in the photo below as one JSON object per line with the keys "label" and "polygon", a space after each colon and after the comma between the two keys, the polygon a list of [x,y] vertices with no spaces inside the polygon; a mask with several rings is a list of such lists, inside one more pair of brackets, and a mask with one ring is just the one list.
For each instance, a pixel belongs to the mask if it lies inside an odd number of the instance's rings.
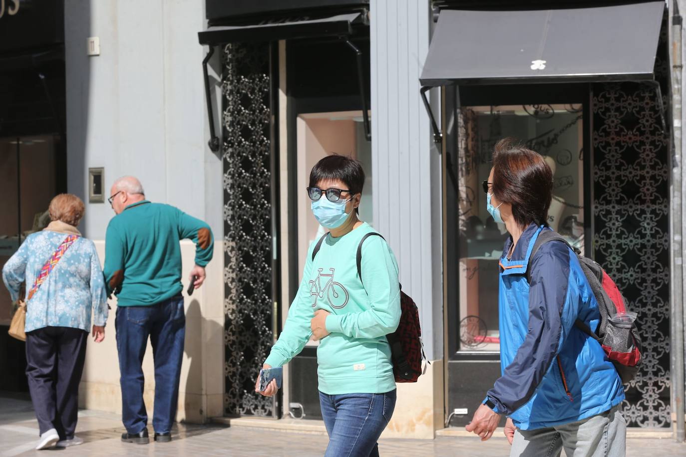
{"label": "reddish-brown hair of the person in blue jacket", "polygon": [[493,151],[493,195],[512,205],[512,216],[521,228],[530,223],[548,225],[553,173],[543,156],[517,143],[500,140]]}

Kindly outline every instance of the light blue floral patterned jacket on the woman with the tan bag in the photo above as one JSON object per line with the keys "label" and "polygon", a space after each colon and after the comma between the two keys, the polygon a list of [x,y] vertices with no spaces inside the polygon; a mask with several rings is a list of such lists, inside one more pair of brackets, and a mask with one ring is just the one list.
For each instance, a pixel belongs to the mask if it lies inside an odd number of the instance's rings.
{"label": "light blue floral patterned jacket on the woman with the tan bag", "polygon": [[[26,238],[2,270],[12,301],[19,297],[23,281],[28,292],[40,269],[66,237],[65,233],[47,229]],[[44,327],[71,327],[90,332],[91,312],[93,325],[105,325],[108,308],[100,260],[93,241],[81,237],[67,249],[27,301],[25,332]]]}

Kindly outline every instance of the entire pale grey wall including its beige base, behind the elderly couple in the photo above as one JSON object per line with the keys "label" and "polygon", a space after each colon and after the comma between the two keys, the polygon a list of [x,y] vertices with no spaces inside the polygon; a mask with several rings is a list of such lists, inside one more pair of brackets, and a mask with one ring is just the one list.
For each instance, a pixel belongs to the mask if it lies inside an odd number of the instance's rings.
{"label": "entire pale grey wall including its beige base, behind the elderly couple", "polygon": [[[80,229],[96,240],[101,261],[110,205],[88,203],[89,167],[104,166],[105,196],[117,177],[136,175],[151,201],[169,203],[207,221],[215,252],[207,280],[186,299],[187,333],[178,420],[220,416],[224,393],[224,273],[222,160],[207,147],[202,59],[204,0],[66,0],[67,169],[69,192],[86,214]],[[86,38],[101,54],[86,55]],[[217,58],[214,60],[217,66]],[[218,115],[218,114],[217,114]],[[182,243],[183,279],[194,248]],[[186,284],[185,284],[186,285]],[[106,341],[89,343],[80,388],[86,408],[121,411],[115,344],[116,300]],[[143,364],[145,401],[152,415],[150,348]]]}

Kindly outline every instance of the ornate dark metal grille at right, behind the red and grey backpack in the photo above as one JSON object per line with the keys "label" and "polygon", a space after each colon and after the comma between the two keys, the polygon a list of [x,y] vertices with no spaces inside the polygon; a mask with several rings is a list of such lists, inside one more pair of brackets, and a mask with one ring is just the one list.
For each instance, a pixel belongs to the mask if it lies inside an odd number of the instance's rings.
{"label": "ornate dark metal grille at right, behind the red and grey backpack", "polygon": [[638,312],[643,339],[643,365],[626,388],[624,416],[629,425],[667,427],[669,140],[654,88],[637,83],[596,88],[600,92],[593,97],[595,260],[617,282],[630,309]]}

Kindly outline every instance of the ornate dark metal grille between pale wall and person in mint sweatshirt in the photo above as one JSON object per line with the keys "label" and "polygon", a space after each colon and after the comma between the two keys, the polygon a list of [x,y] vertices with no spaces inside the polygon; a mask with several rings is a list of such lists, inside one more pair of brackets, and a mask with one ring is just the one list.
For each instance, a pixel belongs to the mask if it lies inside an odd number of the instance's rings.
{"label": "ornate dark metal grille between pale wall and person in mint sweatshirt", "polygon": [[224,375],[227,415],[274,415],[255,393],[272,346],[268,44],[224,47]]}

